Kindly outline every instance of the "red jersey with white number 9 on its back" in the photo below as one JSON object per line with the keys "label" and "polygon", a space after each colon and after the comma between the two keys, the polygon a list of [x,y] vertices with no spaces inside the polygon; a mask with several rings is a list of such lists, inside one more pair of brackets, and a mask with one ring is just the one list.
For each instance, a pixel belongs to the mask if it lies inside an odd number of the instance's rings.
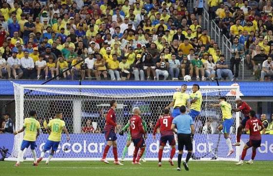
{"label": "red jersey with white number 9 on its back", "polygon": [[158,119],[156,122],[156,126],[154,129],[153,135],[156,135],[156,130],[160,126],[160,134],[161,137],[168,136],[168,135],[173,135],[174,132],[171,130],[172,122],[175,117],[173,116],[163,116]]}

